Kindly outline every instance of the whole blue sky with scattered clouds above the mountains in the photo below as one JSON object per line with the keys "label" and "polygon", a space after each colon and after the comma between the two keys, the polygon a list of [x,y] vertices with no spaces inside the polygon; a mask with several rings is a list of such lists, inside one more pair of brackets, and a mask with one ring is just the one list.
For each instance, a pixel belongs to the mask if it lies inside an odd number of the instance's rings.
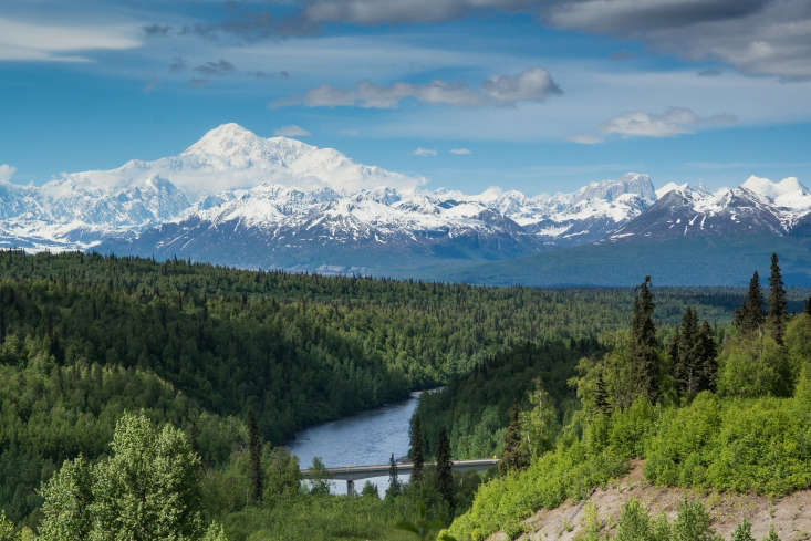
{"label": "whole blue sky with scattered clouds above the mountains", "polygon": [[226,122],[467,191],[811,184],[807,0],[11,0],[0,73],[23,184]]}

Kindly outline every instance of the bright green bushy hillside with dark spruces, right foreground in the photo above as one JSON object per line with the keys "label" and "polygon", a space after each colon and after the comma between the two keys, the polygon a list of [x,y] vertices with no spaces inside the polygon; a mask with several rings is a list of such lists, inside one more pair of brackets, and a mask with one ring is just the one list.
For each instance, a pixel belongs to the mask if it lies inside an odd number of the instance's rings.
{"label": "bright green bushy hillside with dark spruces, right foreground", "polygon": [[[653,318],[656,303],[649,278],[636,291],[630,329],[603,335],[605,353],[580,360],[576,376],[569,379],[579,404],[566,407],[562,419],[555,414],[564,405],[550,399],[559,392],[553,378],[539,374],[529,400],[522,400],[521,392],[513,395],[502,433],[500,476],[479,488],[470,508],[455,518],[440,540],[478,541],[497,531],[516,539],[544,526],[554,529],[555,521],[570,520],[561,506],[593,495],[604,497],[599,503],[605,513],[621,507],[621,517],[602,526],[590,507],[588,531],[578,539],[720,539],[711,532],[713,517],[700,501],[679,504],[669,523],[656,518],[657,510],[672,511],[668,495],[679,492],[641,492],[653,502],[652,510],[637,501],[645,498],[623,504],[615,501],[616,490],[607,496],[594,492],[643,462],[644,478],[656,487],[738,495],[724,501],[732,507],[751,503],[752,516],[762,500],[747,496],[774,502],[800,492],[784,500],[780,512],[792,520],[794,514],[804,516],[803,491],[811,488],[811,300],[802,313],[787,311],[776,254],[768,301],[755,273],[747,300],[724,332],[700,322],[693,309],[685,311],[680,325],[662,332]],[[487,388],[481,393],[487,395]],[[470,402],[461,396],[457,402],[462,406]],[[446,399],[458,407],[454,400],[454,395]],[[430,408],[418,413],[432,423]],[[632,471],[631,479],[638,481],[638,471]],[[707,504],[715,508],[719,501],[710,498]],[[725,509],[716,509],[720,530],[732,520]],[[571,514],[573,520],[575,512]],[[570,527],[574,527],[571,520],[564,529]],[[791,531],[789,539],[808,537],[802,523],[793,527],[799,533]],[[746,523],[735,528],[736,540],[752,539],[741,532]],[[768,539],[781,538],[770,532]]]}

